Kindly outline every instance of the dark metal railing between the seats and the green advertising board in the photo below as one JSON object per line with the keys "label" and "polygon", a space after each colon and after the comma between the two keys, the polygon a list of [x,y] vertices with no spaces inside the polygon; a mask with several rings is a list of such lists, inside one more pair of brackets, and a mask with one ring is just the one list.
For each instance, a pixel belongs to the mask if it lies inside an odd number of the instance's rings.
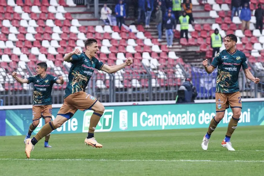
{"label": "dark metal railing between the seats and the green advertising board", "polygon": [[[263,63],[260,63],[262,67]],[[260,84],[254,84],[246,79],[243,71],[239,75],[239,88],[243,98],[264,97],[264,67],[251,64],[251,72],[261,79]],[[65,87],[68,83],[67,73],[69,68],[65,65],[64,70],[56,68],[48,70],[48,73],[65,79],[64,85],[53,85],[53,104],[62,104]],[[17,68],[20,77],[29,77],[34,71],[26,66],[24,70]],[[32,104],[33,85],[20,84],[11,76],[12,72],[0,68],[0,100],[3,105],[26,105]],[[176,67],[152,69],[150,67],[133,66],[120,70],[114,74],[95,71],[90,79],[85,92],[93,95],[101,102],[126,102],[126,101],[163,101],[175,100],[177,90],[185,81],[186,77],[192,77],[192,83],[197,89],[196,99],[214,99],[217,69],[210,75],[204,69],[194,65],[181,65]]]}

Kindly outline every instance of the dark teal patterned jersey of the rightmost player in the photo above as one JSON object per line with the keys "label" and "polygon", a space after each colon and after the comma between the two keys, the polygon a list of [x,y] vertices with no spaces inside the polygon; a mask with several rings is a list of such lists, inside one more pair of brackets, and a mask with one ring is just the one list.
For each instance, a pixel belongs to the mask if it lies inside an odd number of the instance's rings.
{"label": "dark teal patterned jersey of the rightmost player", "polygon": [[233,93],[239,91],[238,86],[238,74],[241,69],[248,68],[246,55],[236,50],[233,54],[227,50],[223,50],[218,53],[212,66],[218,66],[217,78],[216,78],[216,92],[219,93]]}

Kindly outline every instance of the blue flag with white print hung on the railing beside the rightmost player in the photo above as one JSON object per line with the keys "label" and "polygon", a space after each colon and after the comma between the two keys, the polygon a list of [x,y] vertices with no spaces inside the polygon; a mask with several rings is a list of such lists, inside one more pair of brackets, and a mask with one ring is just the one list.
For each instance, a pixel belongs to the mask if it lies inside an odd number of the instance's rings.
{"label": "blue flag with white print hung on the railing beside the rightmost player", "polygon": [[197,89],[198,99],[215,97],[217,69],[208,74],[204,69],[192,67],[192,84]]}

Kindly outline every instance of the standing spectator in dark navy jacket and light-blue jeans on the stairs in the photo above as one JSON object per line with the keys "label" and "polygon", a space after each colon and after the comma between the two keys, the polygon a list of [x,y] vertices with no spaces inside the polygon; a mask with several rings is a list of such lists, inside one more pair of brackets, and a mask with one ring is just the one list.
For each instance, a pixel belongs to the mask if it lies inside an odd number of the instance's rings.
{"label": "standing spectator in dark navy jacket and light-blue jeans on the stairs", "polygon": [[172,18],[171,13],[168,13],[168,17],[165,20],[165,28],[166,28],[166,39],[167,39],[167,47],[172,48],[173,41],[173,32],[175,31],[175,19]]}

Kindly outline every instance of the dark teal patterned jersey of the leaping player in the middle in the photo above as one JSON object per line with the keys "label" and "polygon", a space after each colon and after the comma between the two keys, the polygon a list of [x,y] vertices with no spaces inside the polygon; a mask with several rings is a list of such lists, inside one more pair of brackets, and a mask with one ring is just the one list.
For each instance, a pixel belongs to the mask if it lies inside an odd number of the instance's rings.
{"label": "dark teal patterned jersey of the leaping player in the middle", "polygon": [[64,98],[68,97],[70,94],[85,91],[94,70],[101,70],[103,65],[104,63],[97,60],[95,57],[89,59],[84,52],[72,55],[72,66],[68,76],[69,83],[65,89]]}

